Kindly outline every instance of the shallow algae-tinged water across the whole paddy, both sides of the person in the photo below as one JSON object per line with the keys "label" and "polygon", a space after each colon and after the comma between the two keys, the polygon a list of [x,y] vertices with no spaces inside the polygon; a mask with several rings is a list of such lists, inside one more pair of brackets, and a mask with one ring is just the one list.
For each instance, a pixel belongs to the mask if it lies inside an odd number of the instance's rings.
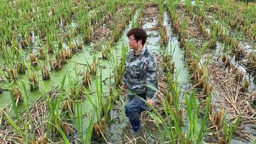
{"label": "shallow algae-tinged water across the whole paddy, both sides of the person", "polygon": [[[154,25],[157,25],[156,18],[154,19],[153,22],[146,22],[143,25],[143,28],[150,28]],[[168,41],[168,46],[166,46],[166,49],[168,49],[169,52],[174,53],[173,61],[175,61],[175,69],[177,71],[180,70],[179,75],[178,75],[178,83],[179,83],[179,86],[181,86],[181,88],[182,88],[181,89],[182,93],[181,93],[180,97],[184,98],[184,91],[188,90],[188,88],[190,88],[190,86],[193,85],[193,84],[190,84],[191,82],[193,82],[193,80],[188,79],[190,77],[190,71],[188,70],[188,64],[182,60],[184,50],[183,50],[183,48],[180,48],[180,43],[178,42],[178,35],[173,31],[172,26],[171,26],[171,21],[170,21],[167,13],[165,13],[165,15],[164,15],[164,25],[167,26],[168,35],[170,36],[169,41]],[[112,52],[114,52],[114,53],[117,52],[118,58],[120,58],[120,54],[121,54],[120,47],[121,47],[122,43],[124,43],[124,44],[128,43],[128,39],[126,38],[126,33],[131,27],[132,27],[132,23],[130,22],[126,26],[126,29],[124,30],[122,37],[116,44],[117,45],[116,51],[115,51],[115,49],[112,50]],[[159,31],[147,31],[147,33],[148,34],[153,33],[153,35],[150,36],[147,40],[147,43],[146,43],[147,48],[150,49],[155,54],[159,55],[159,58],[162,58],[162,54],[164,53],[165,50],[164,50],[164,48],[160,48],[160,33],[159,33]],[[84,46],[83,52],[74,54],[71,59],[68,59],[68,61],[69,61],[68,64],[64,64],[62,70],[50,72],[51,79],[43,81],[48,90],[51,90],[57,86],[60,86],[62,78],[64,77],[64,74],[67,71],[69,71],[72,76],[75,76],[75,72],[74,72],[75,62],[80,63],[80,65],[78,65],[78,72],[85,71],[86,64],[87,64],[86,60],[88,61],[89,64],[92,64],[92,54],[90,53],[90,51],[93,49],[93,47],[85,46],[85,45],[83,45],[83,46]],[[216,53],[217,55],[220,55],[218,53],[218,51],[219,51],[218,48],[220,48],[220,47],[221,47],[221,44],[217,43],[217,48],[216,48],[216,50],[213,50],[213,52]],[[101,57],[101,53],[99,53],[98,56]],[[100,60],[100,65],[102,66],[103,79],[108,78],[108,80],[105,81],[106,84],[103,85],[103,91],[107,93],[108,92],[108,84],[110,83],[109,77],[110,77],[111,69],[110,69],[110,66],[109,66],[107,60]],[[40,70],[38,70],[37,73],[39,74],[39,80],[40,80],[39,87],[40,87],[40,91],[42,92],[43,89],[42,89],[42,81],[41,81],[42,78],[41,78]],[[26,74],[19,74],[18,80],[24,80],[24,82],[26,83],[26,90],[29,92],[29,95],[30,95],[30,103],[33,103],[38,98],[40,98],[41,94],[38,90],[35,90],[33,92],[29,91],[28,80],[26,79],[26,77],[27,77]],[[82,78],[82,76],[80,76],[80,78]],[[112,82],[113,81],[114,80],[112,79]],[[68,85],[68,76],[66,76],[66,80],[65,80],[65,86],[67,86],[67,85]],[[92,90],[90,92],[96,91],[93,85],[94,85],[94,83],[92,83]],[[95,99],[96,97],[93,97],[93,96],[96,96],[95,93],[91,94],[91,96],[92,96],[92,100],[96,100]],[[142,137],[144,139],[144,135],[143,135],[142,131],[140,131],[138,133],[131,132],[130,124],[124,114],[124,105],[127,103],[127,101],[126,101],[125,96],[122,96],[122,98],[124,98],[123,99],[124,104],[122,105],[122,107],[117,108],[117,109],[113,108],[113,110],[111,111],[112,120],[110,120],[110,122],[107,126],[107,130],[109,132],[106,132],[106,139],[111,142],[117,142],[118,140],[120,140],[120,138],[125,136],[124,134],[126,134],[126,136],[128,136],[129,138],[132,138],[134,136],[134,138]],[[9,103],[8,106],[10,106],[10,101],[11,101],[11,99],[10,99],[8,91],[4,91],[2,94],[0,94],[0,102],[1,102],[0,106],[1,107],[8,103]],[[86,117],[86,114],[92,115],[93,107],[87,98],[83,98],[83,101],[80,104],[81,105],[79,106],[78,109],[82,109],[83,128],[84,128],[84,130],[86,130],[88,128],[88,124],[89,124],[89,120]],[[18,109],[20,111],[23,108],[24,108],[23,104],[18,104]],[[76,110],[77,109],[75,108],[75,113],[74,113],[75,118],[77,117]],[[95,120],[96,120],[96,118],[95,118]],[[74,126],[76,128],[75,123],[74,123]],[[189,126],[189,124],[187,124],[186,127],[184,127],[184,129],[188,128],[188,126]],[[122,128],[124,128],[124,134],[122,132]],[[198,128],[200,128],[200,119],[198,120]],[[79,135],[76,134],[76,137],[79,138]],[[154,143],[154,140],[152,140],[152,138],[149,141]],[[145,142],[142,139],[138,138],[137,143],[144,144]]]}

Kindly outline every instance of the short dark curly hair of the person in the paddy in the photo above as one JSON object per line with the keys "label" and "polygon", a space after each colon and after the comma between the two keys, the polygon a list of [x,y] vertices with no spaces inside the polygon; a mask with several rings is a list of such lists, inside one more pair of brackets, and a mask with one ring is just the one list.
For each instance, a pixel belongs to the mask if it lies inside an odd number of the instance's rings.
{"label": "short dark curly hair of the person in the paddy", "polygon": [[127,37],[131,36],[132,34],[136,39],[136,42],[138,43],[139,40],[142,40],[142,45],[144,46],[148,38],[146,30],[143,30],[142,28],[132,28],[127,32]]}

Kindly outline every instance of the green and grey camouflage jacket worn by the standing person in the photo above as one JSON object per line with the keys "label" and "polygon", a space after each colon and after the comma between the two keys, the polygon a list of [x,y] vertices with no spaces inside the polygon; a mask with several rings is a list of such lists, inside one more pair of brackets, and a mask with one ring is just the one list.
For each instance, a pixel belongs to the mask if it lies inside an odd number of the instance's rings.
{"label": "green and grey camouflage jacket worn by the standing person", "polygon": [[[122,80],[127,84],[127,89],[134,94],[146,92],[146,98],[153,98],[156,90],[143,84],[158,88],[156,57],[144,45],[141,52],[134,56],[135,50],[128,50],[125,60],[125,73]],[[127,92],[127,98],[132,100],[134,96]]]}

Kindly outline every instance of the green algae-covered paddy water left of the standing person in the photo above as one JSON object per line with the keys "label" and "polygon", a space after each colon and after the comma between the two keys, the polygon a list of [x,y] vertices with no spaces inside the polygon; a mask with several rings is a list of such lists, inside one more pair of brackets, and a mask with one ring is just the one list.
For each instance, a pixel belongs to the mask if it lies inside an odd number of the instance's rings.
{"label": "green algae-covered paddy water left of the standing person", "polygon": [[[136,14],[135,14],[136,15]],[[136,16],[134,16],[134,18],[136,19]],[[114,54],[114,56],[116,56],[117,54],[117,58],[119,59],[120,56],[121,56],[121,50],[120,50],[120,47],[122,44],[126,44],[126,46],[128,46],[128,39],[126,38],[126,33],[128,32],[128,30],[132,27],[132,23],[130,22],[128,24],[128,26],[126,27],[126,30],[124,30],[124,33],[123,33],[123,36],[120,38],[119,42],[117,42],[117,46],[116,46],[116,50],[113,48],[112,52]],[[63,44],[64,47],[67,47],[67,44]],[[44,80],[44,81],[41,81],[42,77],[41,77],[41,72],[40,70],[36,70],[36,73],[38,74],[38,79],[40,80],[39,81],[39,89],[40,90],[34,90],[32,92],[30,92],[29,90],[29,85],[28,85],[28,79],[27,79],[27,75],[26,74],[19,74],[19,79],[18,81],[24,81],[25,82],[25,85],[26,85],[26,91],[28,91],[28,94],[29,94],[29,103],[33,103],[35,102],[38,98],[41,97],[41,93],[44,92],[44,88],[43,88],[43,85],[42,85],[42,82],[44,82],[44,84],[46,85],[46,89],[48,91],[52,90],[53,88],[55,87],[58,87],[61,85],[61,82],[62,82],[62,79],[64,78],[64,75],[66,74],[66,72],[70,72],[70,75],[71,76],[75,76],[76,73],[74,71],[74,68],[75,68],[75,64],[76,63],[79,63],[78,64],[78,73],[80,72],[84,72],[86,70],[86,65],[87,65],[87,62],[86,60],[88,61],[89,64],[92,64],[92,54],[90,53],[90,51],[93,51],[93,47],[90,45],[90,46],[86,46],[86,45],[83,45],[83,51],[81,53],[77,53],[77,54],[74,54],[72,56],[72,58],[70,59],[67,59],[68,61],[68,64],[64,64],[64,66],[62,67],[61,70],[57,70],[57,71],[50,71],[50,80]],[[99,52],[97,54],[97,57],[101,58],[101,53]],[[103,92],[104,93],[108,93],[108,84],[110,84],[110,80],[109,80],[109,77],[110,77],[110,72],[112,74],[112,70],[110,68],[110,65],[108,63],[108,60],[100,60],[100,66],[102,66],[102,79],[105,80],[105,83],[103,85]],[[82,76],[79,76],[81,79]],[[66,75],[66,80],[65,80],[65,86],[68,86],[68,80],[69,80],[69,77],[68,75]],[[112,83],[113,83],[114,79],[112,78]],[[87,89],[89,92],[92,92],[91,96],[92,96],[92,100],[94,101],[94,103],[96,102],[96,94],[95,94],[95,87],[94,87],[94,82],[92,82],[91,84],[91,88],[92,90],[90,91],[89,88]],[[66,87],[67,88],[67,87]],[[6,90],[8,90],[8,87],[5,88]],[[24,90],[22,90],[24,91]],[[7,110],[10,108],[11,106],[11,98],[10,98],[10,95],[9,95],[9,92],[8,91],[4,91],[2,94],[0,94],[0,106],[4,106],[4,105],[7,105]],[[18,104],[18,111],[22,111],[23,108],[24,108],[24,105],[23,104]],[[86,117],[86,114],[89,114],[89,115],[92,115],[92,112],[93,112],[93,106],[92,104],[90,104],[90,101],[87,99],[87,98],[83,98],[83,101],[79,104],[79,107],[78,109],[82,110],[82,127],[84,128],[84,130],[86,130],[88,128],[88,124],[89,124],[89,120],[88,118]],[[122,107],[121,111],[122,113],[119,115],[118,113],[116,113],[116,111],[112,111],[111,112],[111,116],[112,117],[120,117],[120,120],[121,122],[124,122],[126,120],[126,117],[124,115],[124,108]],[[74,113],[74,117],[76,118],[76,111],[77,111],[77,108],[75,108],[75,113]],[[11,115],[13,115],[14,113],[11,111]],[[96,117],[94,118],[94,120],[96,121]],[[113,118],[113,120],[111,121],[113,123],[113,121],[117,120],[116,118]],[[110,122],[110,123],[111,123]],[[69,122],[69,123],[72,123],[72,122]],[[74,126],[76,128],[76,122],[74,123]],[[120,127],[116,127],[114,124],[113,125],[109,125],[109,128],[108,128],[108,131],[112,132],[113,134],[115,134],[115,132],[117,132],[118,134],[121,134],[120,132]],[[77,134],[76,137],[79,138],[79,135]],[[107,134],[106,136],[108,139],[111,139],[111,136],[109,136]],[[118,137],[114,137],[116,138],[115,140],[118,139]],[[113,139],[114,139],[113,138]]]}

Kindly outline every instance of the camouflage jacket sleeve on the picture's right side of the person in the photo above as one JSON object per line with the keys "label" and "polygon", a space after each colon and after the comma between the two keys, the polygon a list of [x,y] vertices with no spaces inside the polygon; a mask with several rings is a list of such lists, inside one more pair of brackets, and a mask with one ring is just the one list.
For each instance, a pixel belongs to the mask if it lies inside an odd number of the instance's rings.
{"label": "camouflage jacket sleeve on the picture's right side of the person", "polygon": [[[152,56],[147,64],[145,84],[158,89],[156,57]],[[146,98],[153,98],[156,90],[147,87]]]}

